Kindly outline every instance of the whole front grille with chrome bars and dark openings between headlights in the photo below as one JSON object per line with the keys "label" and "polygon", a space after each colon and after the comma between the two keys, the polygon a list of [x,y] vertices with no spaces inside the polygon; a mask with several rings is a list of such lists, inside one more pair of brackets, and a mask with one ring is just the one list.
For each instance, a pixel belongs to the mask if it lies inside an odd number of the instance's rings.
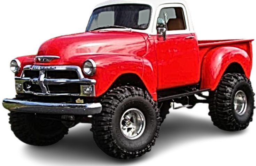
{"label": "whole front grille with chrome bars and dark openings between headlights", "polygon": [[[95,80],[84,78],[78,66],[25,66],[21,77],[16,77],[16,84],[22,84],[17,93],[35,95],[71,95],[95,96]],[[92,94],[81,93],[83,86],[89,85]]]}

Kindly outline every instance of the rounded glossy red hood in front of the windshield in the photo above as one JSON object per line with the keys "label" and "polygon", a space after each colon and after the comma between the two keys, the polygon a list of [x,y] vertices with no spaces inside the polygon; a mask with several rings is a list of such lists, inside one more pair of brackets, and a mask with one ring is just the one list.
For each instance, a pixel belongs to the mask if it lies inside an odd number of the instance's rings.
{"label": "rounded glossy red hood in front of the windshield", "polygon": [[[143,33],[130,31],[93,31],[65,35],[46,41],[37,55],[55,55],[59,59],[37,65],[75,65],[75,59],[98,55],[143,56],[147,52]],[[77,58],[79,57],[79,58]],[[78,62],[76,62],[78,63]]]}

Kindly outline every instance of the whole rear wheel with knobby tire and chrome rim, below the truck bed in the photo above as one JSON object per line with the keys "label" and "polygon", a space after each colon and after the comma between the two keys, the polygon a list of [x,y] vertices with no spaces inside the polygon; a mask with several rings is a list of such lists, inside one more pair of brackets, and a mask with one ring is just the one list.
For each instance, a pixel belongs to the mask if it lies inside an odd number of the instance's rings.
{"label": "whole rear wheel with knobby tire and chrome rim, below the truck bed", "polygon": [[245,75],[226,74],[209,97],[209,115],[218,128],[240,131],[253,120],[254,93]]}

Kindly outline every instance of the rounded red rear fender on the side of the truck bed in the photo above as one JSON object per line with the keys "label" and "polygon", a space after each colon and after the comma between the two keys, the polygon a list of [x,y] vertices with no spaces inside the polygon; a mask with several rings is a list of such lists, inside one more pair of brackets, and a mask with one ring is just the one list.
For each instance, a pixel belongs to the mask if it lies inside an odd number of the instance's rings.
{"label": "rounded red rear fender on the side of the truck bed", "polygon": [[245,50],[236,47],[221,47],[210,50],[205,55],[201,71],[201,89],[215,90],[227,67],[232,63],[242,66],[250,78],[251,60]]}

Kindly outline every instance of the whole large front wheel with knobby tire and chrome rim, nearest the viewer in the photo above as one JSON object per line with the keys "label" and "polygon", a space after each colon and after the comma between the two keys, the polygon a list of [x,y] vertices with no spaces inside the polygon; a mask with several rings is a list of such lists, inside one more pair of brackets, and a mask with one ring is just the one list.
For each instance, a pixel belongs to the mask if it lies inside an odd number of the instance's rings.
{"label": "whole large front wheel with knobby tire and chrome rim, nearest the viewer", "polygon": [[160,129],[157,103],[137,87],[110,90],[102,112],[93,117],[92,132],[98,147],[118,159],[132,159],[151,150]]}

